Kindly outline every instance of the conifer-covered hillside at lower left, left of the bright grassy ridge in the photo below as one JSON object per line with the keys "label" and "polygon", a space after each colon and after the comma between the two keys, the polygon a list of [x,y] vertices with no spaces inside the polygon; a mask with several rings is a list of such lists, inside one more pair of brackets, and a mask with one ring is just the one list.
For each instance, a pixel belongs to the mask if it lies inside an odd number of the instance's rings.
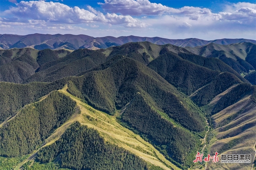
{"label": "conifer-covered hillside at lower left, left of the bright grassy ridge", "polygon": [[46,99],[24,107],[10,121],[1,125],[0,156],[15,157],[32,153],[70,118],[74,107],[73,100],[56,91]]}

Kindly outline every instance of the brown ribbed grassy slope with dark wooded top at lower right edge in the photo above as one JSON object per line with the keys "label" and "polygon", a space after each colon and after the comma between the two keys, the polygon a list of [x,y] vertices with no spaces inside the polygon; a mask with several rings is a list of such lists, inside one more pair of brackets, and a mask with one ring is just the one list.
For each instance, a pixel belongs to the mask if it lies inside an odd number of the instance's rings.
{"label": "brown ribbed grassy slope with dark wooded top at lower right edge", "polygon": [[[231,99],[227,100],[228,97]],[[216,96],[207,108],[214,110],[212,108],[219,107],[218,103],[226,106],[211,117],[213,130],[208,136],[209,153],[214,154],[217,151],[219,155],[251,154],[251,163],[221,163],[219,156],[219,163],[208,162],[207,169],[251,169],[256,141],[255,86],[232,86]]]}

